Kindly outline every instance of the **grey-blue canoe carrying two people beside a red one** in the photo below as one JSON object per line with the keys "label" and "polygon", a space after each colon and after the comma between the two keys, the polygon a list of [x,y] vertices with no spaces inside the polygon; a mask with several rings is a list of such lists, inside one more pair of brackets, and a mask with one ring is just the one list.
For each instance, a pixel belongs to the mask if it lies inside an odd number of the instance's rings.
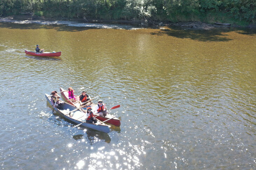
{"label": "grey-blue canoe carrying two people beside a red one", "polygon": [[[50,95],[45,94],[45,97],[46,97],[47,101],[49,103],[51,103],[50,102]],[[81,112],[80,110],[76,110],[76,111],[74,111],[70,114],[71,116],[69,116],[68,113],[72,110],[75,110],[75,109],[76,109],[75,106],[73,106],[69,103],[66,103],[66,102],[64,102],[64,104],[63,104],[63,110],[60,110],[56,107],[54,108],[54,110],[57,111],[58,113],[60,113],[61,116],[63,116],[64,118],[72,121],[73,123],[80,124],[85,119],[85,113]],[[96,131],[109,133],[110,129],[109,129],[108,125],[106,125],[105,123],[99,125],[100,123],[101,123],[100,121],[97,121],[96,124],[85,122],[85,123],[82,123],[81,126],[88,127],[88,128],[94,129]]]}

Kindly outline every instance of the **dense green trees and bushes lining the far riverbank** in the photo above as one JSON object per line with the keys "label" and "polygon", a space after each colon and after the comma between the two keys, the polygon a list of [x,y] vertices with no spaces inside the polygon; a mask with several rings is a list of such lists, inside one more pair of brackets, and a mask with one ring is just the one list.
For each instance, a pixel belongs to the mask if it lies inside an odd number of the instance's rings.
{"label": "dense green trees and bushes lining the far riverbank", "polygon": [[255,24],[255,0],[1,0],[0,16]]}

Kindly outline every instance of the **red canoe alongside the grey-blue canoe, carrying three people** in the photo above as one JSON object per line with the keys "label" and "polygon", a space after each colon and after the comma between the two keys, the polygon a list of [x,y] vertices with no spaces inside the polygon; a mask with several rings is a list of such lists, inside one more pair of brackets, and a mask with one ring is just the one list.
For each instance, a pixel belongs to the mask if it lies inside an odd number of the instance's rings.
{"label": "red canoe alongside the grey-blue canoe, carrying three people", "polygon": [[[76,102],[73,103],[72,100],[68,100],[68,91],[66,91],[66,90],[63,89],[63,88],[60,88],[60,92],[61,92],[61,95],[68,101],[68,103],[70,103],[70,104],[76,106],[76,108],[80,108],[80,107],[81,107],[80,102],[77,102],[77,101],[79,101],[79,96],[74,95]],[[90,106],[91,108],[93,108],[93,107],[95,106],[95,104],[90,101],[90,102],[88,102],[88,104],[86,104],[85,108],[87,108],[88,106]],[[97,116],[97,119],[99,119],[99,120],[101,120],[101,121],[105,121],[105,120],[107,120],[107,119],[110,119],[110,118],[113,118],[113,117],[114,117],[114,116],[112,116],[111,114],[107,114],[106,117],[98,116],[97,114],[94,114],[94,117],[95,117],[95,116]],[[117,126],[117,127],[120,127],[120,126],[121,126],[120,119],[118,119],[118,118],[116,118],[116,117],[114,117],[113,119],[108,120],[106,123],[111,124],[111,125],[114,125],[114,126]]]}

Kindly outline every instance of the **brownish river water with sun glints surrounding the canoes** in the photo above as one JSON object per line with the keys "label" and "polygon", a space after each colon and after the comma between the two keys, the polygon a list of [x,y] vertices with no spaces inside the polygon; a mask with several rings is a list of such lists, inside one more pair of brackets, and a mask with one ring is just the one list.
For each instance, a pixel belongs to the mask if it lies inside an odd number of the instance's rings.
{"label": "brownish river water with sun glints surrounding the canoes", "polygon": [[[62,55],[27,56],[36,44]],[[0,23],[0,167],[253,170],[255,44],[238,28]],[[60,87],[120,104],[121,127],[72,128],[45,99]]]}

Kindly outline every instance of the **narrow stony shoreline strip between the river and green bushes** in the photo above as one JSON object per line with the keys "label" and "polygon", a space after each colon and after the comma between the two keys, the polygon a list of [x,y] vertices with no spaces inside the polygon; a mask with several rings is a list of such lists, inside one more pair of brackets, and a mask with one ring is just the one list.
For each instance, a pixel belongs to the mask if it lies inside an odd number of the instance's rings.
{"label": "narrow stony shoreline strip between the river and green bushes", "polygon": [[8,17],[0,17],[0,22],[12,22],[19,24],[63,24],[75,27],[93,27],[93,28],[112,28],[112,29],[141,29],[141,28],[161,28],[165,26],[175,26],[184,29],[198,29],[198,30],[210,30],[214,28],[256,28],[256,25],[248,25],[241,27],[239,25],[220,25],[220,24],[208,24],[204,22],[159,22],[154,24],[142,23],[140,20],[100,20],[100,19],[65,19],[54,17],[32,17],[31,15],[14,15]]}

